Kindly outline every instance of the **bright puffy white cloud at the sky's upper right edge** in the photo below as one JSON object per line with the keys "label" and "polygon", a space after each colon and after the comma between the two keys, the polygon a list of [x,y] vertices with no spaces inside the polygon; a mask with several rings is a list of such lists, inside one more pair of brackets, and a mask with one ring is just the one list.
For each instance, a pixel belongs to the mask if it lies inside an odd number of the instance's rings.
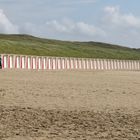
{"label": "bright puffy white cloud at the sky's upper right edge", "polygon": [[123,14],[118,6],[105,7],[105,20],[112,26],[140,28],[140,17],[134,16],[132,13]]}

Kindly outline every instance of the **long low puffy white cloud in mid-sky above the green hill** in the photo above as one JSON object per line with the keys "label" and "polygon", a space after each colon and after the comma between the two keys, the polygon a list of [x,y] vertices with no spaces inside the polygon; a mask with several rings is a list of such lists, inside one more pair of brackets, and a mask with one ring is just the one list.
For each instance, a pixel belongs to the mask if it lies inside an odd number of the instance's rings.
{"label": "long low puffy white cloud in mid-sky above the green hill", "polygon": [[62,21],[48,21],[46,23],[46,26],[54,32],[65,33],[70,35],[82,35],[88,37],[105,35],[105,32],[102,29],[94,25],[90,25],[85,22],[74,22],[68,19]]}

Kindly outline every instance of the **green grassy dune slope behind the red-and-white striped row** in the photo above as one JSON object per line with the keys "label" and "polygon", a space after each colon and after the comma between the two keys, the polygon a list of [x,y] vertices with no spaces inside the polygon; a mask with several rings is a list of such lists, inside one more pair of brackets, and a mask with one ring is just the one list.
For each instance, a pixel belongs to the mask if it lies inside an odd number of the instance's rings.
{"label": "green grassy dune slope behind the red-and-white striped row", "polygon": [[0,53],[109,59],[140,59],[140,50],[98,42],[68,42],[29,35],[0,35]]}

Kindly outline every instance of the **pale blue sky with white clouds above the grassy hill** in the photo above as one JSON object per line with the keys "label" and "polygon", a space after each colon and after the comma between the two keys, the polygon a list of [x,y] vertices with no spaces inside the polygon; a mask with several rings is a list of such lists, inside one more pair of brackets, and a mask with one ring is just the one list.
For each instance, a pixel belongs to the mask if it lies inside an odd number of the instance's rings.
{"label": "pale blue sky with white clouds above the grassy hill", "polygon": [[140,48],[140,0],[0,0],[0,33]]}

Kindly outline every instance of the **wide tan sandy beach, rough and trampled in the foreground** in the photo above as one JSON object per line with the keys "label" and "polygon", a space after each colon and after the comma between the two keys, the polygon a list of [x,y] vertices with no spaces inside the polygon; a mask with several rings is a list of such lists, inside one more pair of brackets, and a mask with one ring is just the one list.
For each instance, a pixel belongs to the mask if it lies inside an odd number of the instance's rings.
{"label": "wide tan sandy beach, rough and trampled in the foreground", "polygon": [[140,72],[1,70],[0,140],[140,140]]}

